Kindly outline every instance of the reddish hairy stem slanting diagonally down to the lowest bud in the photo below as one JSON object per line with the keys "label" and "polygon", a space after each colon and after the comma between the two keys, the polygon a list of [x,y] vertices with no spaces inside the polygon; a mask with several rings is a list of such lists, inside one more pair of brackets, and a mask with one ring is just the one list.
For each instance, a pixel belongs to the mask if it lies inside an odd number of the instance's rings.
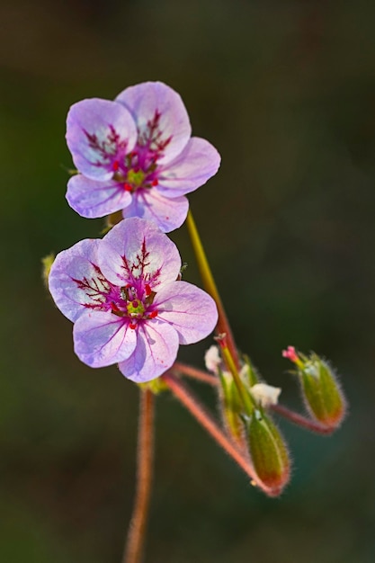
{"label": "reddish hairy stem slanting diagonally down to the lowest bud", "polygon": [[171,372],[165,373],[162,377],[168,388],[174,393],[174,397],[178,398],[183,406],[190,411],[192,416],[194,416],[203,428],[210,433],[211,437],[219,443],[219,446],[221,446],[223,450],[227,451],[230,457],[237,462],[241,469],[245,471],[246,475],[251,479],[252,485],[261,488],[268,496],[278,496],[281,491],[279,489],[276,490],[263,485],[263,482],[256,475],[247,456],[244,455],[242,451],[239,451],[237,445],[231,442],[226,434],[222,432],[219,424],[217,424],[217,422],[207,412],[206,408],[201,405],[199,399],[193,395],[192,391],[187,389],[183,382],[174,377]]}

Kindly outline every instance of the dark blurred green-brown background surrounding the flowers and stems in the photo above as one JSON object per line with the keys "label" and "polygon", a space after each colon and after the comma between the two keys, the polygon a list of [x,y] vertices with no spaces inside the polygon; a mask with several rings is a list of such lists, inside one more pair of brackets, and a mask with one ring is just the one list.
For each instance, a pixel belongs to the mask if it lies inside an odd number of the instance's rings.
{"label": "dark blurred green-brown background surrounding the flowers and stems", "polygon": [[[78,362],[40,258],[103,227],[64,198],[67,108],[145,80],[222,155],[190,200],[238,345],[296,408],[281,349],[325,354],[351,405],[331,438],[281,421],[293,479],[271,500],[158,398],[146,562],[374,561],[375,4],[4,0],[0,22],[0,561],[121,560],[138,389]],[[202,367],[209,344],[181,358]]]}

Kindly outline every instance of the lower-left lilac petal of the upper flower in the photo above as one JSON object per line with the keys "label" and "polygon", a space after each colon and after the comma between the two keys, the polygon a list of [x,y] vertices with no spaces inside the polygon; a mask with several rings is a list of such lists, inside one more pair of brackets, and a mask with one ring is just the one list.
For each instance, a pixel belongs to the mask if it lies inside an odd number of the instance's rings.
{"label": "lower-left lilac petal of the upper flower", "polygon": [[131,195],[113,180],[97,182],[76,174],[67,183],[67,202],[82,217],[95,219],[122,210],[131,203]]}

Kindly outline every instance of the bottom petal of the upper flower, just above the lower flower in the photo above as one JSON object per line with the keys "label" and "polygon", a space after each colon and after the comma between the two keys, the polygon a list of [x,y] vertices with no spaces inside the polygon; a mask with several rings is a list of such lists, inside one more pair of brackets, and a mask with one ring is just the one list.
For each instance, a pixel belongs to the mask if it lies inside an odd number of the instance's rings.
{"label": "bottom petal of the upper flower, just above the lower flower", "polygon": [[150,219],[164,233],[169,233],[181,227],[188,210],[189,201],[184,196],[173,199],[165,197],[165,194],[161,194],[157,187],[135,192],[130,205],[122,210],[122,215]]}

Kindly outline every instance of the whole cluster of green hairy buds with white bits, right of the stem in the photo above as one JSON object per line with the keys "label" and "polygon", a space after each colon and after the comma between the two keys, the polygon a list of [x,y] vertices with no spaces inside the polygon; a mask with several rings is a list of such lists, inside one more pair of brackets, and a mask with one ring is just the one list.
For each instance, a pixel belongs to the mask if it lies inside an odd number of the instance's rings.
{"label": "whole cluster of green hairy buds with white bits, right of the stem", "polygon": [[[228,436],[254,469],[254,485],[269,496],[280,495],[290,478],[290,455],[272,412],[317,433],[332,433],[343,421],[345,399],[335,374],[316,353],[305,356],[290,346],[282,355],[296,365],[308,417],[278,405],[281,389],[268,385],[249,358],[237,370],[225,339],[211,346],[206,368],[218,376],[219,406]],[[229,362],[228,362],[229,354]]]}

